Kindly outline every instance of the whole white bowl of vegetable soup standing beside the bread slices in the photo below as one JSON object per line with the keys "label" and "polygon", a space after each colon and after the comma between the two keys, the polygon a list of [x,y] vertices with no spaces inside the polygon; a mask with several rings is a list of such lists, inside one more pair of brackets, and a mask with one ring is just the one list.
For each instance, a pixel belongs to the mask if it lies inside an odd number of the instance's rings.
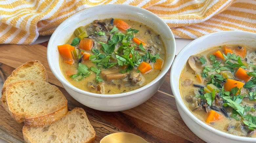
{"label": "whole white bowl of vegetable soup standing beside the bread slices", "polygon": [[[71,48],[71,53],[65,55],[61,48]],[[49,66],[67,92],[101,111],[127,110],[148,100],[174,56],[175,40],[167,24],[145,9],[116,4],[72,15],[57,27],[47,47]]]}

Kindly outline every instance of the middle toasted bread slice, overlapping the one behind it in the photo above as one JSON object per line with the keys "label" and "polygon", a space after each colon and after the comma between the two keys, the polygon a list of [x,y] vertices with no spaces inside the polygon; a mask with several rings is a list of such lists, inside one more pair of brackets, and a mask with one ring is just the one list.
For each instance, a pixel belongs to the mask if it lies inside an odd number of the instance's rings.
{"label": "middle toasted bread slice, overlapping the one behind it", "polygon": [[28,126],[42,126],[68,112],[62,92],[45,81],[22,80],[6,87],[6,102],[11,116]]}

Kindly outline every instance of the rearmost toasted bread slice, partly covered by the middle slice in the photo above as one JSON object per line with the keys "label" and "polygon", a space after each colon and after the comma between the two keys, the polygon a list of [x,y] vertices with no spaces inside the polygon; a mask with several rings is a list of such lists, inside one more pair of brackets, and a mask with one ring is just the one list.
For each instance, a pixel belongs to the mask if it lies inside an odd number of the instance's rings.
{"label": "rearmost toasted bread slice, partly covered by the middle slice", "polygon": [[40,61],[33,60],[24,63],[23,65],[19,66],[17,69],[12,71],[11,75],[6,79],[2,89],[2,97],[0,98],[0,104],[4,107],[4,109],[7,112],[10,113],[6,103],[6,87],[10,83],[27,79],[42,80],[48,82],[48,76],[45,67],[40,63]]}

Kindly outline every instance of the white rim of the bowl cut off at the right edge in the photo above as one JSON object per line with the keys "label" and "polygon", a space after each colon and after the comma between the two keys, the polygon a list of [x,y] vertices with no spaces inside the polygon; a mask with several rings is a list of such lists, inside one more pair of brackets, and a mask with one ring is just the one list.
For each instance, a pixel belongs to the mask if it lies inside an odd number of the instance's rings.
{"label": "white rim of the bowl cut off at the right edge", "polygon": [[[204,35],[202,37],[199,37],[193,41],[191,41],[190,43],[188,43],[183,49],[181,49],[181,51],[177,54],[177,56],[175,57],[174,61],[173,61],[173,65],[176,65],[178,64],[178,59],[182,56],[182,53],[184,53],[186,50],[189,49],[189,47],[191,47],[192,44],[194,43],[200,43],[201,39],[205,39],[205,38],[208,38],[208,37],[211,37],[213,35],[224,35],[224,34],[228,34],[228,33],[243,33],[243,34],[253,34],[255,35],[256,37],[256,33],[253,33],[253,32],[246,32],[246,31],[220,31],[220,32],[214,32],[214,33],[210,33],[210,34],[207,34],[207,35]],[[181,65],[180,65],[181,66]],[[182,65],[182,68],[183,68],[184,65]],[[175,97],[175,101],[176,101],[176,104],[178,104],[180,107],[181,107],[181,110],[187,115],[189,116],[190,119],[194,120],[195,122],[197,122],[198,124],[200,124],[204,129],[210,131],[210,132],[214,132],[215,134],[217,135],[220,135],[220,136],[223,136],[225,138],[230,138],[230,139],[235,139],[235,140],[238,140],[238,141],[248,141],[248,142],[255,142],[255,139],[256,137],[246,137],[246,136],[238,136],[238,135],[232,135],[232,134],[228,134],[228,133],[225,133],[223,131],[220,131],[218,129],[215,129],[211,126],[209,126],[208,124],[204,123],[203,121],[201,121],[200,119],[198,119],[196,116],[194,116],[186,107],[186,105],[184,104],[183,100],[181,99],[181,95],[180,95],[180,89],[179,89],[179,86],[178,86],[178,89],[177,89],[177,81],[175,81],[175,77],[174,77],[174,71],[177,70],[177,69],[174,69],[174,68],[171,68],[171,71],[170,71],[170,84],[171,84],[171,89],[172,89],[172,92],[174,94],[174,97]],[[178,82],[179,84],[179,82]],[[176,90],[177,89],[177,90]]]}

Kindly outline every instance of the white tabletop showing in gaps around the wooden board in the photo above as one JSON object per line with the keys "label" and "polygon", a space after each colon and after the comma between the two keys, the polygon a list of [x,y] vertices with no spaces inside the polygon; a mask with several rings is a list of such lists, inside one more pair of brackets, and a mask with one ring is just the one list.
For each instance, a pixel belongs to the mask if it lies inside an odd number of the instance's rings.
{"label": "white tabletop showing in gaps around the wooden board", "polygon": [[[34,44],[42,43],[44,41],[47,41],[50,39],[50,36],[41,36],[39,37]],[[175,55],[177,55],[183,47],[185,47],[188,43],[190,43],[192,40],[190,39],[175,39],[176,42],[176,52]],[[3,88],[3,80],[0,78],[0,90]],[[2,95],[0,95],[2,96]],[[0,143],[8,143],[7,141],[0,138]]]}

